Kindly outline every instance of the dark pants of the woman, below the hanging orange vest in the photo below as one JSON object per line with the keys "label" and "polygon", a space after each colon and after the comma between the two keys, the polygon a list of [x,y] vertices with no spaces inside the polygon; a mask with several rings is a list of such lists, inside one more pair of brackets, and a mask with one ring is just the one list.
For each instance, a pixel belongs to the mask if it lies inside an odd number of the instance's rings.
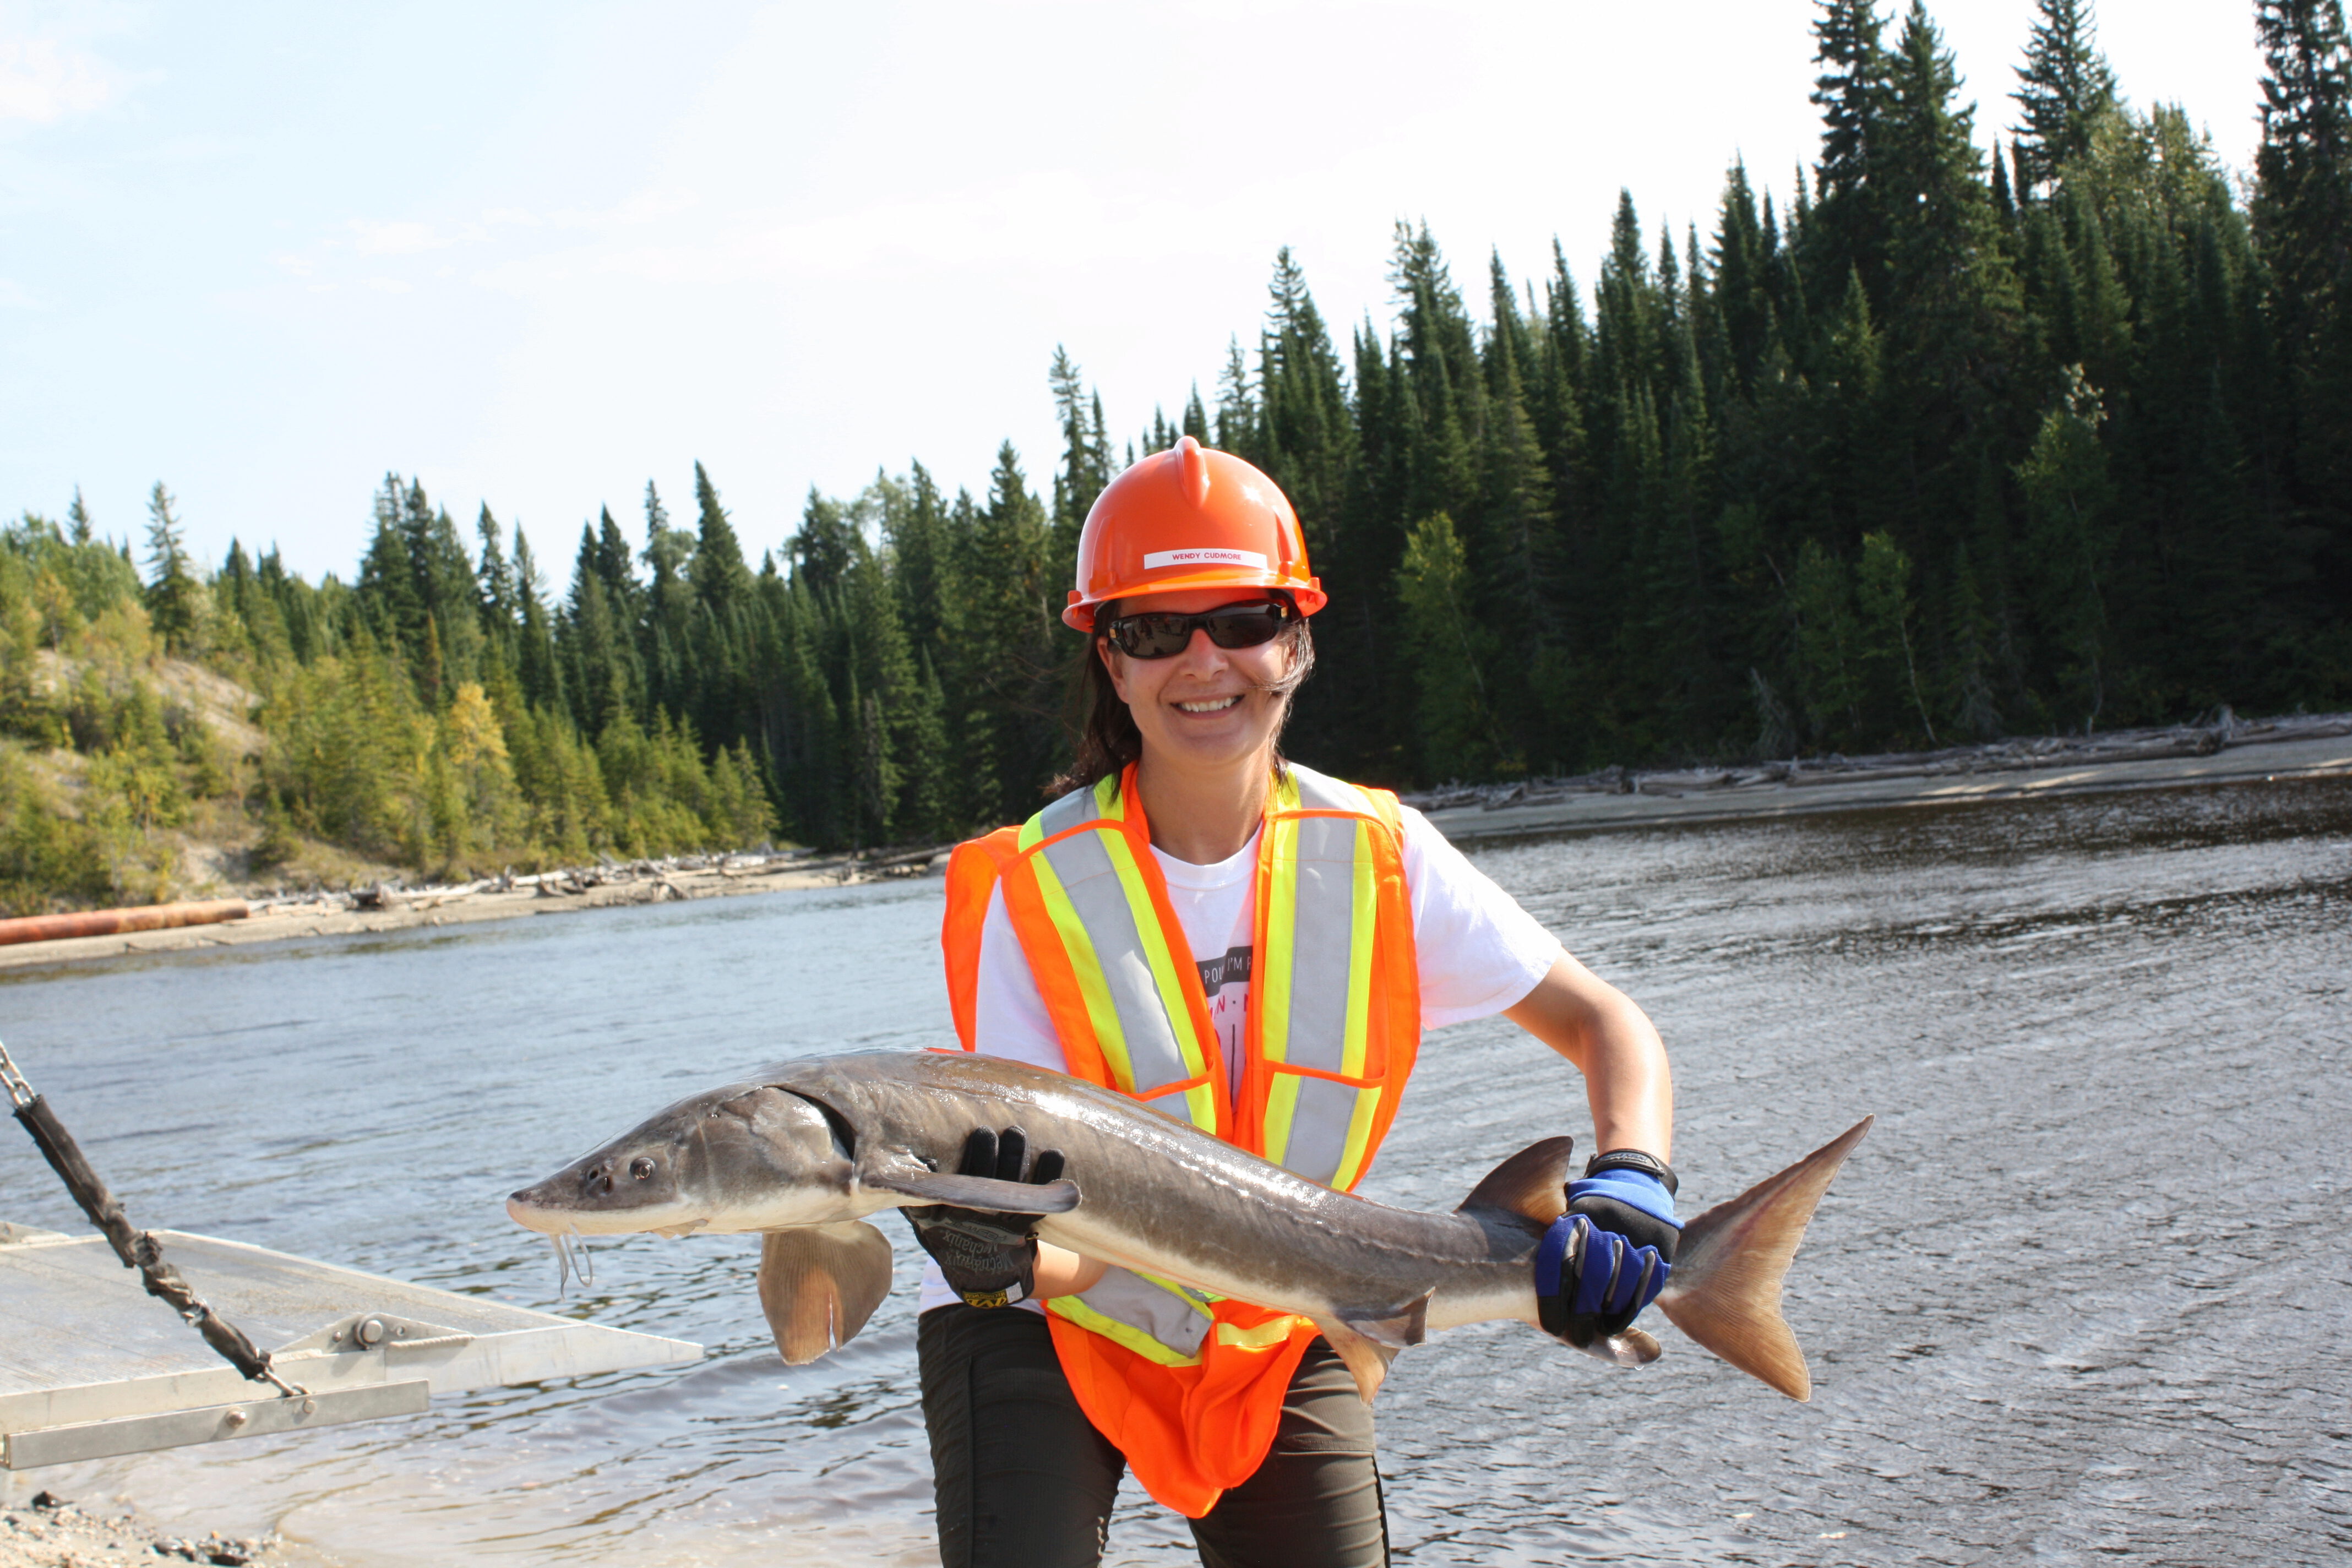
{"label": "dark pants of the woman, below the hanging orange vest", "polygon": [[[1127,1458],[1018,1307],[934,1307],[915,1333],[943,1568],[1096,1568]],[[1207,1568],[1383,1568],[1388,1521],[1371,1410],[1322,1340],[1308,1347],[1272,1453],[1192,1521]]]}

